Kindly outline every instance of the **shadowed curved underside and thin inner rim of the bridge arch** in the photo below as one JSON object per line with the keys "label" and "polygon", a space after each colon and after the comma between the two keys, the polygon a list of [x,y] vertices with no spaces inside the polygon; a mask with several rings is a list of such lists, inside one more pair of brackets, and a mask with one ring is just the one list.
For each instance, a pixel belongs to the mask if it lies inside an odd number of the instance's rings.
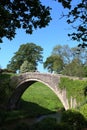
{"label": "shadowed curved underside and thin inner rim of the bridge arch", "polygon": [[[44,85],[46,85],[46,87],[48,87],[49,89],[52,90],[52,92],[57,96],[58,95],[53,91],[53,89],[49,86],[49,84],[41,81],[41,80],[37,80],[37,79],[27,79],[26,81],[21,82],[15,89],[14,93],[12,94],[9,103],[8,103],[8,108],[9,109],[16,109],[17,108],[17,104],[20,101],[21,96],[23,95],[23,93],[26,91],[27,88],[29,88],[32,84],[36,83],[36,82],[40,82]],[[59,99],[59,98],[58,98]],[[59,99],[60,100],[60,99]],[[60,100],[61,102],[61,100]],[[62,104],[62,103],[61,103]]]}

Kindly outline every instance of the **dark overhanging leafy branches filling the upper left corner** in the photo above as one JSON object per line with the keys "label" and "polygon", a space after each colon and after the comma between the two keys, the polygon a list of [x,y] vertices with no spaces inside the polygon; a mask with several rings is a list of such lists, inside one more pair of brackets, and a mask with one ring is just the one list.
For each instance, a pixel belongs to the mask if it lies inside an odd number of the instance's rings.
{"label": "dark overhanging leafy branches filling the upper left corner", "polygon": [[12,40],[16,29],[23,28],[32,34],[50,22],[50,8],[40,0],[0,0],[0,42],[3,37]]}

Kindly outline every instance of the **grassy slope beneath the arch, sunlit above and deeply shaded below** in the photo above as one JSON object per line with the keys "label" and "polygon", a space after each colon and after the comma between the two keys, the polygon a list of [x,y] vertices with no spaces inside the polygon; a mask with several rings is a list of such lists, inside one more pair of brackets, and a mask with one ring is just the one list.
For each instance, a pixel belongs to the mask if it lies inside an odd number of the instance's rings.
{"label": "grassy slope beneath the arch, sunlit above and deeply shaded below", "polygon": [[1,123],[9,123],[23,118],[36,118],[56,112],[62,107],[61,102],[52,90],[44,84],[36,82],[23,93],[17,110],[0,111]]}

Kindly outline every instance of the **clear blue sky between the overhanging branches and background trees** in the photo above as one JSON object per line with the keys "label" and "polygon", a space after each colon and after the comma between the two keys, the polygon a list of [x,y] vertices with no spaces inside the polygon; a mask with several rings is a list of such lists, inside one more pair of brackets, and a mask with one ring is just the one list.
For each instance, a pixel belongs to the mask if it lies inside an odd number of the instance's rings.
{"label": "clear blue sky between the overhanging branches and background trees", "polygon": [[[42,29],[34,30],[32,35],[26,34],[23,29],[17,30],[17,34],[12,41],[3,38],[3,43],[0,44],[0,66],[6,68],[10,59],[14,56],[14,53],[19,49],[20,45],[26,43],[35,43],[41,46],[43,51],[43,61],[51,55],[53,48],[56,45],[68,44],[70,47],[77,46],[78,43],[71,41],[67,36],[67,33],[72,32],[70,25],[66,23],[66,19],[61,17],[62,12],[66,12],[61,4],[51,0],[41,0],[43,4],[52,7],[51,17],[52,21],[49,26]],[[40,72],[46,72],[43,65],[39,64],[38,70]]]}

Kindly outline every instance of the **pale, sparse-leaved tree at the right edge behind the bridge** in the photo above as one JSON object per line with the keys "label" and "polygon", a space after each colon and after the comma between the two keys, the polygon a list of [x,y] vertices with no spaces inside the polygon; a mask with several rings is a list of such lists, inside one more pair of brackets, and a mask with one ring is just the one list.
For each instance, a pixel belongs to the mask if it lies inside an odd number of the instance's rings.
{"label": "pale, sparse-leaved tree at the right edge behind the bridge", "polygon": [[84,77],[87,76],[87,48],[71,48],[70,63],[66,64],[63,74]]}

